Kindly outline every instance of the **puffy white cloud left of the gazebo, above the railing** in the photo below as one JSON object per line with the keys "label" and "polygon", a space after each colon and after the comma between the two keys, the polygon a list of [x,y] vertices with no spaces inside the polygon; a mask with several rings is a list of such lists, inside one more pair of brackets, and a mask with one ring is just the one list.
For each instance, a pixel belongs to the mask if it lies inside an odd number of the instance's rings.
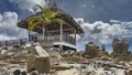
{"label": "puffy white cloud left of the gazebo, above the railing", "polygon": [[0,41],[26,38],[26,31],[16,26],[18,14],[15,12],[0,13]]}

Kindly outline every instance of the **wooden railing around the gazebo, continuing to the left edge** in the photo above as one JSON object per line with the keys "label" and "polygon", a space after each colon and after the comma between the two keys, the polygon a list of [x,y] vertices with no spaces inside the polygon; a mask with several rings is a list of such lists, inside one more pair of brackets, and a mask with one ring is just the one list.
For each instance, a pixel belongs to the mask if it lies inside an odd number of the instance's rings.
{"label": "wooden railing around the gazebo, continuing to the left edge", "polygon": [[[42,35],[34,34],[34,35],[30,35],[30,41],[55,42],[55,41],[59,41],[59,35],[48,35],[43,39]],[[76,44],[76,40],[70,35],[63,35],[63,41],[70,43],[70,44]],[[28,43],[28,39],[0,41],[0,46],[24,45],[26,43]]]}

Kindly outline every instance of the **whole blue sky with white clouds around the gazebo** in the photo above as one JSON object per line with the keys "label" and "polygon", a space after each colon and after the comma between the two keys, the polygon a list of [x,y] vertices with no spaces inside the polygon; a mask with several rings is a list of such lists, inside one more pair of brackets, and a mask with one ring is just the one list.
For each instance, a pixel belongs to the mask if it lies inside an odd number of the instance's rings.
{"label": "whole blue sky with white clouds around the gazebo", "polygon": [[[105,44],[111,52],[114,38],[123,38],[132,43],[132,0],[48,0],[69,13],[84,29],[77,35],[78,50],[94,42]],[[35,4],[46,6],[44,0],[0,0],[0,41],[28,38],[16,22],[40,10]],[[131,50],[131,47],[130,47]]]}

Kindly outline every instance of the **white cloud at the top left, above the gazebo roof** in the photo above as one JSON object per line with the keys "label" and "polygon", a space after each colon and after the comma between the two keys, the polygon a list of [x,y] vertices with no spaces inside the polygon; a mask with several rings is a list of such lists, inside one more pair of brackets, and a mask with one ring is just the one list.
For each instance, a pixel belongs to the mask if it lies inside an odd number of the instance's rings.
{"label": "white cloud at the top left, above the gazebo roof", "polygon": [[20,9],[28,10],[32,13],[38,11],[36,4],[40,4],[42,7],[46,6],[45,0],[9,0],[9,1],[16,3]]}

